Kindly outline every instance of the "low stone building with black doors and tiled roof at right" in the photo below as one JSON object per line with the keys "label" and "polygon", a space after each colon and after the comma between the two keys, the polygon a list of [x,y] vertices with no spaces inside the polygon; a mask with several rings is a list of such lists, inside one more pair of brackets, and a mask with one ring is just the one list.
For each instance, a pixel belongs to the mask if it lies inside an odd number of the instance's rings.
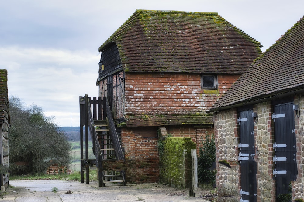
{"label": "low stone building with black doors and tiled roof at right", "polygon": [[220,196],[304,199],[303,32],[301,18],[211,108]]}

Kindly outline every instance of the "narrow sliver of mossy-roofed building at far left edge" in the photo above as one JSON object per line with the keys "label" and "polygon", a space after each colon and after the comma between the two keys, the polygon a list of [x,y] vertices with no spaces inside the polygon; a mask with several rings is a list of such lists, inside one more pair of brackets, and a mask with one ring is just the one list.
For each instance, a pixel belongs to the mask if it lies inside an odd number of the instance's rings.
{"label": "narrow sliver of mossy-roofed building at far left edge", "polygon": [[7,70],[0,69],[0,190],[9,186],[9,124]]}

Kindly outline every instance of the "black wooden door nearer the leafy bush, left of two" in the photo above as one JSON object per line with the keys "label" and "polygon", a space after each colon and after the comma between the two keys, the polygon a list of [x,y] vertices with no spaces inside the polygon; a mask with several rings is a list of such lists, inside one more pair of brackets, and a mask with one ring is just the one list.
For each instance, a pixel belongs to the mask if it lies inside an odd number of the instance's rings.
{"label": "black wooden door nearer the leafy bush, left of two", "polygon": [[253,110],[239,111],[240,124],[239,160],[241,164],[241,200],[257,201],[257,163],[254,161],[254,124]]}

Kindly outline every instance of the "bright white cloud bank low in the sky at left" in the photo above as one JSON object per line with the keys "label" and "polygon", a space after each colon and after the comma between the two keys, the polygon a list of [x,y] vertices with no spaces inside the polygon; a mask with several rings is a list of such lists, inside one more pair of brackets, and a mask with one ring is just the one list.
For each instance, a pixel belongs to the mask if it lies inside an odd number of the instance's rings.
{"label": "bright white cloud bank low in the sky at left", "polygon": [[98,96],[99,58],[79,50],[0,48],[0,66],[8,70],[9,95],[42,106],[46,114],[56,112],[61,126],[70,125],[71,113],[78,120],[73,126],[79,125],[79,96]]}

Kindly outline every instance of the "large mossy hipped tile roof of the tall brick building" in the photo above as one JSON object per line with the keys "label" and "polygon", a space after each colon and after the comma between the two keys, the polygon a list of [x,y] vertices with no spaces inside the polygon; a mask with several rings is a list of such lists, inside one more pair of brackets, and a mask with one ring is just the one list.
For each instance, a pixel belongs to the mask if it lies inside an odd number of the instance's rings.
{"label": "large mossy hipped tile roof of the tall brick building", "polygon": [[217,13],[136,10],[99,51],[112,43],[130,72],[241,74],[261,53]]}

